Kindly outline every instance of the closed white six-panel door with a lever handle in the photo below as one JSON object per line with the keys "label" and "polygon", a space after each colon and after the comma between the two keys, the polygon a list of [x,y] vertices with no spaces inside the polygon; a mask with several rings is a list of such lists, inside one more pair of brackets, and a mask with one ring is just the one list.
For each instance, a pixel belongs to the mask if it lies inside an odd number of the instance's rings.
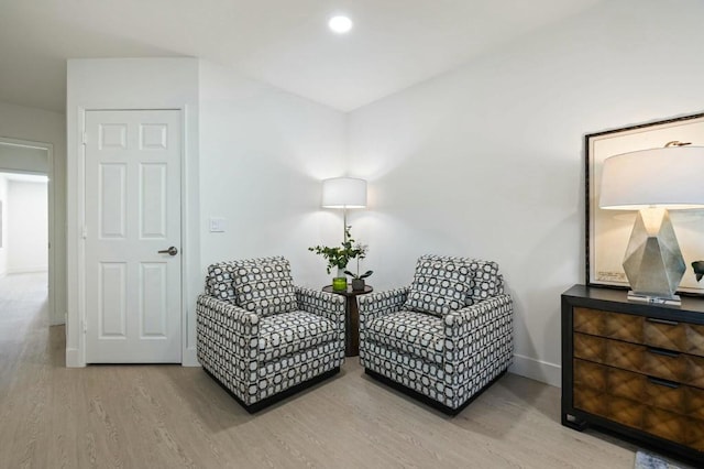
{"label": "closed white six-panel door with a lever handle", "polygon": [[85,142],[86,362],[180,362],[180,113],[86,111]]}

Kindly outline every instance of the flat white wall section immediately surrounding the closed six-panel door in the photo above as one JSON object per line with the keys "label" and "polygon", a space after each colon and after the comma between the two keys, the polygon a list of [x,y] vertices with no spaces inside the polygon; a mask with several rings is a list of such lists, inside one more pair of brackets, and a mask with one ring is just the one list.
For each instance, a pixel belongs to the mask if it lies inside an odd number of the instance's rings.
{"label": "flat white wall section immediately surrounding the closed six-panel door", "polygon": [[184,283],[183,362],[196,364],[196,296],[202,291],[198,236],[198,61],[195,58],[69,59],[67,63],[67,279],[66,364],[85,366],[79,279],[81,133],[89,109],[179,109],[184,119]]}

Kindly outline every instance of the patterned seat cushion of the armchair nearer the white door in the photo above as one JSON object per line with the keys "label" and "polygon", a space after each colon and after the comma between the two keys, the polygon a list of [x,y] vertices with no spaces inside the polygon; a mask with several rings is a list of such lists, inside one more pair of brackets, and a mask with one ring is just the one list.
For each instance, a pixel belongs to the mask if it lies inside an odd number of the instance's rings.
{"label": "patterned seat cushion of the armchair nearer the white door", "polygon": [[268,362],[300,350],[338,340],[336,324],[311,313],[295,310],[260,321],[258,361]]}

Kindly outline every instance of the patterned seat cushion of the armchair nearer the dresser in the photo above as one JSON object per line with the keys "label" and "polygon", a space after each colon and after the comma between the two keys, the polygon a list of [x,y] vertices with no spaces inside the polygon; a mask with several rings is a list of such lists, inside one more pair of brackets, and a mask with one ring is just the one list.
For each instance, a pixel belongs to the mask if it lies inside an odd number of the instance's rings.
{"label": "patterned seat cushion of the armchair nearer the dresser", "polygon": [[365,329],[369,340],[442,364],[444,324],[427,313],[400,310],[372,319]]}

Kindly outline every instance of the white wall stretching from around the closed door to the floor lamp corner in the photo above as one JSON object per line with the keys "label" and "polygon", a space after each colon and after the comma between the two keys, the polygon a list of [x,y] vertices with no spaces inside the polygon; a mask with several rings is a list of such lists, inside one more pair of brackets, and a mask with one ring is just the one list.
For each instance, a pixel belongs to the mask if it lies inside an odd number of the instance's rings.
{"label": "white wall stretching from around the closed door to the floor lamp corner", "polygon": [[[283,254],[298,283],[316,288],[329,283],[324,263],[306,248],[340,242],[339,214],[319,206],[320,179],[343,172],[344,114],[188,58],[72,59],[67,96],[68,366],[85,364],[76,187],[82,109],[186,108],[190,155],[184,199],[190,219],[199,221],[187,222],[182,251],[193,266],[186,272],[184,364],[196,364],[194,307],[208,264]],[[211,233],[210,217],[226,218],[227,231]]]}

